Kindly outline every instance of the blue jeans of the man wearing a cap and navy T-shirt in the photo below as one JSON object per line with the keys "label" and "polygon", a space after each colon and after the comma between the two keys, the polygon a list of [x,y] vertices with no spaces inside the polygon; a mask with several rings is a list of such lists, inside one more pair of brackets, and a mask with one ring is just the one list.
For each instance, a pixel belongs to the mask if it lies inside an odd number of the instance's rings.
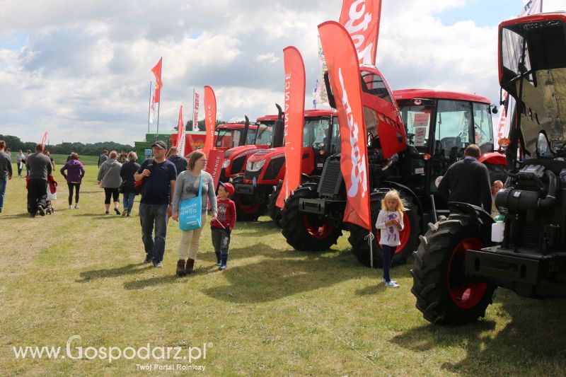
{"label": "blue jeans of the man wearing a cap and navy T-shirt", "polygon": [[147,257],[151,257],[155,263],[161,262],[165,254],[167,207],[169,207],[168,204],[139,204],[141,240],[144,241]]}

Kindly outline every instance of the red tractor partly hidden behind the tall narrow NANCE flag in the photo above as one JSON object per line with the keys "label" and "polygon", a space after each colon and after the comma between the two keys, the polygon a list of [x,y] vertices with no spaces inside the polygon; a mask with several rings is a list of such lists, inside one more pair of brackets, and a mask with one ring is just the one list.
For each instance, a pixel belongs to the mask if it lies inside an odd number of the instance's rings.
{"label": "red tractor partly hidden behind the tall narrow NANCE flag", "polygon": [[[257,220],[269,204],[270,214],[277,223],[279,210],[275,207],[275,200],[285,175],[283,113],[280,109],[279,114],[272,148],[250,156],[246,172],[232,181],[236,187],[234,201],[238,220]],[[326,158],[340,149],[338,118],[334,110],[305,110],[304,117],[301,172],[304,181],[317,180]],[[277,187],[275,192],[274,187]]]}

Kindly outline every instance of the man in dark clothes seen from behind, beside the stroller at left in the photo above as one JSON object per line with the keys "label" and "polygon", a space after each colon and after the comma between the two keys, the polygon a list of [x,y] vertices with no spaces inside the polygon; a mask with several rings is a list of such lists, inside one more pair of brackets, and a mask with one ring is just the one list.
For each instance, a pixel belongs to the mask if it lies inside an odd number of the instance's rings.
{"label": "man in dark clothes seen from behind, beside the stroller at left", "polygon": [[34,217],[39,211],[41,216],[45,216],[47,207],[47,176],[51,174],[52,165],[49,157],[45,156],[43,146],[37,144],[35,153],[26,158],[25,166],[30,172],[28,182],[28,212]]}

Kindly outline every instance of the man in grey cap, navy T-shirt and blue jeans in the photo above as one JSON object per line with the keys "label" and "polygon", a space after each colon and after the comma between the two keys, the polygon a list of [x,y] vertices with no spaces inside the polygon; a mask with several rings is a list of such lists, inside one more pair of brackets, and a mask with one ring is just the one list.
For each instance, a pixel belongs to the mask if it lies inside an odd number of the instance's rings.
{"label": "man in grey cap, navy T-shirt and blue jeans", "polygon": [[141,240],[144,241],[146,251],[144,263],[153,262],[154,267],[163,267],[161,262],[165,253],[167,220],[168,214],[171,213],[177,170],[175,165],[165,158],[167,145],[164,141],[156,141],[151,148],[154,157],[141,163],[134,173],[134,180],[144,180],[139,203]]}

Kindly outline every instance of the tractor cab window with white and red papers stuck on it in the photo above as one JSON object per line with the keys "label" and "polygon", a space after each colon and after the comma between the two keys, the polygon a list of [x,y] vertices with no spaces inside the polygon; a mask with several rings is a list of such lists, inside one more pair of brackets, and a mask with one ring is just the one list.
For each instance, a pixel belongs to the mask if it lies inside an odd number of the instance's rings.
{"label": "tractor cab window with white and red papers stuck on it", "polygon": [[[421,102],[416,100],[417,103]],[[401,118],[405,124],[407,134],[407,144],[414,146],[417,151],[426,152],[429,146],[430,122],[434,106],[415,105],[415,101],[410,101],[400,108]]]}

